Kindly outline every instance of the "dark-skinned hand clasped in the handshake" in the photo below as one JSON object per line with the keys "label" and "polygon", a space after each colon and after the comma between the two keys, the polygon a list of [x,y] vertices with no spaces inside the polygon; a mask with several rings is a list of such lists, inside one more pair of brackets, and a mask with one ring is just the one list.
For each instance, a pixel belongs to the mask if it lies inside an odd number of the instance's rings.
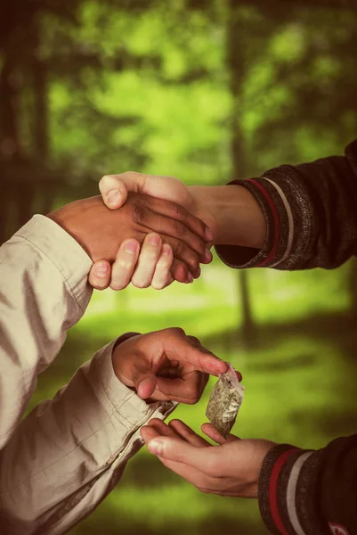
{"label": "dark-skinned hand clasped in the handshake", "polygon": [[[179,282],[189,283],[200,274],[199,262],[208,263],[212,254],[207,249],[207,226],[188,210],[143,193],[129,193],[120,210],[109,210],[101,197],[71,202],[48,215],[85,249],[93,262],[112,263],[121,244],[130,240],[128,254],[138,259],[140,244],[148,234],[166,244],[174,253],[171,275]],[[116,269],[126,271],[117,263]],[[123,278],[123,277],[121,277]],[[122,282],[114,289],[121,289]]]}

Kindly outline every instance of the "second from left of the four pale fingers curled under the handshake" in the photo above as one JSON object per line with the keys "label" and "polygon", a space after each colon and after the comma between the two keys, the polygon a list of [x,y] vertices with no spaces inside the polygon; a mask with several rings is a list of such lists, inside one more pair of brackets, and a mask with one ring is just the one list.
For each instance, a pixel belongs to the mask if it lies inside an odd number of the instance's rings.
{"label": "second from left of the four pale fingers curled under the handshake", "polygon": [[125,240],[119,248],[111,267],[110,288],[123,290],[130,283],[139,256],[140,243],[134,239]]}

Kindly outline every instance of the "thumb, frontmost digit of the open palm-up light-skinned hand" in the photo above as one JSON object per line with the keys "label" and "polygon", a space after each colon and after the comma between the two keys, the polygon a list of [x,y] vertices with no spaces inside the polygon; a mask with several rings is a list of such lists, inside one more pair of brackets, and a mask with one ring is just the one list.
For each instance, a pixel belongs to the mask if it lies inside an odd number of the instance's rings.
{"label": "thumb, frontmost digit of the open palm-up light-skinned hand", "polygon": [[207,456],[211,454],[208,448],[205,448],[205,451],[202,452],[201,448],[191,446],[191,444],[188,444],[183,440],[169,437],[157,437],[151,439],[148,442],[147,447],[150,453],[153,453],[158,457],[175,461],[176,463],[195,466],[200,470],[205,469],[207,465]]}

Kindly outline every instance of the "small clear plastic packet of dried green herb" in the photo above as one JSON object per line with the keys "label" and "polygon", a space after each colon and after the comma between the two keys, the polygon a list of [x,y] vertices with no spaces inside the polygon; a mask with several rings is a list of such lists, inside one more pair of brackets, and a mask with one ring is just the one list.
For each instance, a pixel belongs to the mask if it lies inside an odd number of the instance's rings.
{"label": "small clear plastic packet of dried green herb", "polygon": [[236,421],[244,398],[244,386],[239,383],[234,368],[219,376],[208,401],[206,416],[215,429],[226,439]]}

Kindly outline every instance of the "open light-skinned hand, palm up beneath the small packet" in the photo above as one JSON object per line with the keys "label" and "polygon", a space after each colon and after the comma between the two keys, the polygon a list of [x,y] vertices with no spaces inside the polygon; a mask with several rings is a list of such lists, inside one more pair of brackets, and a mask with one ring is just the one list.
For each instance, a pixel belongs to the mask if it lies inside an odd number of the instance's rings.
{"label": "open light-skinned hand, palm up beneath the small packet", "polygon": [[275,443],[232,434],[224,439],[212,424],[203,424],[202,431],[219,445],[212,446],[181,420],[166,425],[154,418],[141,433],[150,453],[201,492],[257,498],[264,458]]}

